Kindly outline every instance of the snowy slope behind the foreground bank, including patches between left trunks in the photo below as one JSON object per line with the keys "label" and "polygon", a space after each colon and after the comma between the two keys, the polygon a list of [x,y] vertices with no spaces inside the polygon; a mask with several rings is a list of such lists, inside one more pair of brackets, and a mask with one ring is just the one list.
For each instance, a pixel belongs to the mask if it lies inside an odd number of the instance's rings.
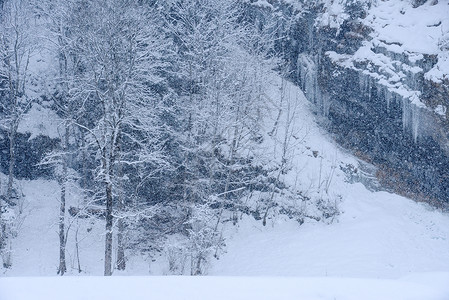
{"label": "snowy slope behind the foreground bank, including patches between left trunks", "polygon": [[[292,142],[294,157],[285,175],[287,182],[296,184],[312,200],[321,197],[335,201],[341,214],[326,222],[305,218],[302,225],[272,214],[267,226],[242,215],[237,226],[225,228],[227,253],[211,262],[209,274],[399,278],[414,272],[449,272],[449,217],[425,204],[387,192],[371,192],[361,183],[349,183],[342,168],[358,168],[357,160],[320,129],[302,92],[285,82],[282,89],[282,84],[274,76],[267,85],[267,97],[279,103],[283,93],[285,107],[280,124],[288,119],[284,116],[287,106],[295,107],[290,111],[295,116],[292,134],[298,139]],[[274,118],[267,122],[267,132],[273,122]],[[275,143],[267,147],[273,147],[266,150],[268,155],[279,151]],[[59,243],[58,186],[42,180],[21,184],[26,195],[25,218],[13,244],[13,268],[3,270],[3,274],[54,275]],[[76,206],[77,198],[73,189],[69,204]],[[296,205],[309,209],[307,203]],[[100,275],[103,221],[80,224],[77,238],[81,274]],[[74,236],[75,232],[70,231],[67,252],[69,273],[77,274]],[[126,274],[143,275],[150,270],[158,275],[166,269],[163,256],[148,265],[131,255]]]}

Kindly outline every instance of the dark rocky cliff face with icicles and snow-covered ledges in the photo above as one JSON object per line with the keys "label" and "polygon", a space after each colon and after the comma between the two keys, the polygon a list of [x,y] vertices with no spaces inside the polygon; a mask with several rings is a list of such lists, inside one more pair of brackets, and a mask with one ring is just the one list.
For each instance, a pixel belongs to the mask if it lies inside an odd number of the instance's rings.
{"label": "dark rocky cliff face with icicles and snow-covered ledges", "polygon": [[447,203],[449,3],[284,0],[252,6],[274,13],[289,29],[278,48],[337,141],[374,163],[386,187]]}

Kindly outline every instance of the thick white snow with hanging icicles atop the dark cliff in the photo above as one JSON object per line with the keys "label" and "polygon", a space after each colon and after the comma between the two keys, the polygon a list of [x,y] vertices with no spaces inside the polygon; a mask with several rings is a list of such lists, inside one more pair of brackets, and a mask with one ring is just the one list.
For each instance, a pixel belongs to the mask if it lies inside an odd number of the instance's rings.
{"label": "thick white snow with hanging icicles atop the dark cliff", "polygon": [[357,21],[370,30],[358,50],[325,53],[333,64],[368,76],[378,90],[402,99],[404,129],[410,129],[415,141],[435,131],[428,118],[435,110],[422,99],[422,78],[438,84],[449,78],[448,4],[427,1],[413,7],[412,1],[374,1]]}

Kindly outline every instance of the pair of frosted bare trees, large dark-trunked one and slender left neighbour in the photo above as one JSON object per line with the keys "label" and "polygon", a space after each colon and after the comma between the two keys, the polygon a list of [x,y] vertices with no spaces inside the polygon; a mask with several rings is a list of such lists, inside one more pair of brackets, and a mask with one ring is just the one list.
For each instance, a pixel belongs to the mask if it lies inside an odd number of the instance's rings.
{"label": "pair of frosted bare trees, large dark-trunked one and slender left neighbour", "polygon": [[58,273],[66,271],[68,168],[85,153],[90,166],[83,168],[90,168],[90,175],[83,187],[104,205],[105,275],[111,275],[114,221],[119,230],[117,268],[125,268],[121,212],[127,172],[156,172],[167,164],[160,151],[160,103],[152,89],[162,80],[157,73],[164,65],[164,41],[151,15],[157,11],[126,0],[48,1],[38,8],[58,58],[51,97],[63,120],[60,149],[44,160],[61,166]]}

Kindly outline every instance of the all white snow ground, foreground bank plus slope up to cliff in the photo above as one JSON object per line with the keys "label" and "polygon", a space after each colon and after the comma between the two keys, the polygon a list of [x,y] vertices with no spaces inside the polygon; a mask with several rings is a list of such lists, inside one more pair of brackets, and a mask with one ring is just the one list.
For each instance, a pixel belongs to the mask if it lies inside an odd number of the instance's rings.
{"label": "all white snow ground, foreground bank plus slope up to cliff", "polygon": [[[75,277],[103,273],[103,221],[80,222],[72,228],[79,228],[82,272],[77,271],[71,230],[67,258],[72,277],[59,278],[54,276],[59,254],[57,183],[21,181],[24,219],[12,245],[13,267],[0,269],[0,300],[449,299],[449,216],[426,204],[348,183],[340,166],[357,167],[357,159],[320,129],[297,87],[287,83],[281,90],[281,85],[273,76],[266,96],[279,103],[283,94],[284,108],[295,107],[297,138],[292,168],[285,176],[311,197],[341,197],[341,214],[333,222],[306,218],[300,225],[275,214],[263,226],[243,215],[237,226],[225,228],[226,253],[210,261],[212,276],[195,278],[159,277],[169,274],[163,254],[150,259],[133,253],[128,253],[127,270],[114,271],[111,278]],[[274,119],[267,122],[266,132]],[[267,140],[264,151],[276,156],[278,148]],[[69,205],[79,198],[73,189]]]}

